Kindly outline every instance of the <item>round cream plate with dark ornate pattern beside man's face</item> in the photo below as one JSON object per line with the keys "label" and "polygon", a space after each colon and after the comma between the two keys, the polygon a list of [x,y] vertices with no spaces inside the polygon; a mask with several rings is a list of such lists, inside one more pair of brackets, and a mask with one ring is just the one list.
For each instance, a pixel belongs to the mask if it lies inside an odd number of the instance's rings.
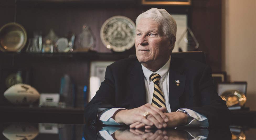
{"label": "round cream plate with dark ornate pattern beside man's face", "polygon": [[135,23],[124,16],[114,16],[107,19],[100,30],[103,44],[116,52],[123,52],[134,46]]}

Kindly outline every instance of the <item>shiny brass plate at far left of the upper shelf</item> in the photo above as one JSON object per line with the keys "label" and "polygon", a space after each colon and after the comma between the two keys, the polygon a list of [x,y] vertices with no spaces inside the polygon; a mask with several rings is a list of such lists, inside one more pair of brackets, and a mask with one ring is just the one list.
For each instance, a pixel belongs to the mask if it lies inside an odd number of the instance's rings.
{"label": "shiny brass plate at far left of the upper shelf", "polygon": [[18,52],[27,41],[24,27],[18,23],[7,23],[0,28],[0,50]]}

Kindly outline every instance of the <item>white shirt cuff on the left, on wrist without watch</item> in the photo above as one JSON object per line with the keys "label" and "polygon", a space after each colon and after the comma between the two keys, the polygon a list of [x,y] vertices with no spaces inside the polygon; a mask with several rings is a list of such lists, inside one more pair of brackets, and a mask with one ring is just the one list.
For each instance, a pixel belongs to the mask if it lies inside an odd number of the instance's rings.
{"label": "white shirt cuff on the left, on wrist without watch", "polygon": [[121,123],[118,123],[113,118],[111,118],[115,114],[115,112],[120,109],[125,108],[111,108],[109,110],[100,112],[98,114],[99,120],[105,125],[121,125]]}

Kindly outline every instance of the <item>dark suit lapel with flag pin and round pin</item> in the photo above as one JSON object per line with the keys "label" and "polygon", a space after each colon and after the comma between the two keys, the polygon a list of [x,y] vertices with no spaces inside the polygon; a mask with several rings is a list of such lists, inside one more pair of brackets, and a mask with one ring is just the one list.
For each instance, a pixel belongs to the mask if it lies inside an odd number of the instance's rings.
{"label": "dark suit lapel with flag pin and round pin", "polygon": [[[181,106],[180,96],[184,93],[186,81],[183,71],[182,61],[171,57],[169,69],[169,103],[172,112],[177,111]],[[179,80],[179,85],[175,83],[175,80]]]}

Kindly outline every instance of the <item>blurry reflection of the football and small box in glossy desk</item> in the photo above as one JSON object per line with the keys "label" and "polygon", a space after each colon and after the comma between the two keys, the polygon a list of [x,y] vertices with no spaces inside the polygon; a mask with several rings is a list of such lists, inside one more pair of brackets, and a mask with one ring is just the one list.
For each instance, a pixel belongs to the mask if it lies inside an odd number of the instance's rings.
{"label": "blurry reflection of the football and small box in glossy desk", "polygon": [[84,125],[57,123],[2,123],[1,140],[82,140]]}

